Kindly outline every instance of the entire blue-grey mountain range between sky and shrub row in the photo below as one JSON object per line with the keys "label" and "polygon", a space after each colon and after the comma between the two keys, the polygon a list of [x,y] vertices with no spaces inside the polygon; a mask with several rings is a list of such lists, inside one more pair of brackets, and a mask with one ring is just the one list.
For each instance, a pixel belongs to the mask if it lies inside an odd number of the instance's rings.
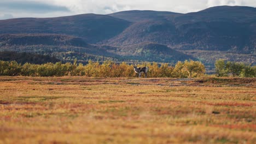
{"label": "entire blue-grey mountain range between sky and shrub row", "polygon": [[236,53],[240,60],[255,63],[256,8],[220,6],[188,14],[131,10],[0,20],[0,51],[6,50],[69,60],[112,57],[177,62],[190,58],[208,64],[216,60],[214,53],[223,51],[228,52],[223,58],[234,59],[232,53]]}

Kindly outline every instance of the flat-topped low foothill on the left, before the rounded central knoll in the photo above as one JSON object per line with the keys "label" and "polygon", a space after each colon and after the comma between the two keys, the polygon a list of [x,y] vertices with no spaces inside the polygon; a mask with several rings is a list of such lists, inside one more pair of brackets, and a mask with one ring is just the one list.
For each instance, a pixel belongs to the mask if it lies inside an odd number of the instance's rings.
{"label": "flat-topped low foothill on the left, before the rounded central knoll", "polygon": [[[108,47],[108,49],[113,49]],[[108,52],[104,46],[85,43],[78,37],[58,34],[2,34],[0,51],[30,52],[41,55],[56,56],[62,61],[78,58],[95,60],[103,57],[120,57]]]}

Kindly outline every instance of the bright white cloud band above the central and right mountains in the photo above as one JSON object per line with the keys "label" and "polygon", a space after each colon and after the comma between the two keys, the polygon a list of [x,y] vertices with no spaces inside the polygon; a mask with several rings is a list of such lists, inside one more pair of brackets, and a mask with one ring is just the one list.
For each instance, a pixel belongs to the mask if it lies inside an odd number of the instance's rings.
{"label": "bright white cloud band above the central and right mountains", "polygon": [[[75,13],[108,14],[123,10],[161,10],[189,13],[217,5],[247,5],[256,7],[255,0],[54,0],[55,4]],[[107,8],[107,9],[106,9]]]}

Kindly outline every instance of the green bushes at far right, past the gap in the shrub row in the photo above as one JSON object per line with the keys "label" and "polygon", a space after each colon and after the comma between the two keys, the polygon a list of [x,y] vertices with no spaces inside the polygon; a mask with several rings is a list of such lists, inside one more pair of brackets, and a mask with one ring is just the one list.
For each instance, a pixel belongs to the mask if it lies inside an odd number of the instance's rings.
{"label": "green bushes at far right, past the gap in the shrub row", "polygon": [[256,66],[241,62],[225,61],[219,59],[215,63],[216,76],[256,77]]}

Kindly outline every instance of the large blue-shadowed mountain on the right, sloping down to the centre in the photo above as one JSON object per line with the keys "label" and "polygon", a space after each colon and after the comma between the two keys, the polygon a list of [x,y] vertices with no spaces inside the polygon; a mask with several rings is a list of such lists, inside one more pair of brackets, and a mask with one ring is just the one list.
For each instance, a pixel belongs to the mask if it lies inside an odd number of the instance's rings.
{"label": "large blue-shadowed mountain on the right, sloping down to the centre", "polygon": [[255,23],[256,8],[213,7],[170,19],[136,21],[107,43],[121,46],[151,41],[179,50],[252,53],[256,47]]}

